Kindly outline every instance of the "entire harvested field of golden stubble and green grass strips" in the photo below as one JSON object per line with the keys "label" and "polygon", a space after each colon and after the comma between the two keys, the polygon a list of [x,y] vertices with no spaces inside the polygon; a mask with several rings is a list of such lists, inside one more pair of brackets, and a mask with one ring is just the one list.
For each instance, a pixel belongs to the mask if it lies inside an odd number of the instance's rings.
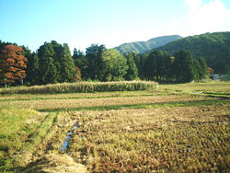
{"label": "entire harvested field of golden stubble and green grass strips", "polygon": [[1,171],[229,172],[230,83],[1,95]]}

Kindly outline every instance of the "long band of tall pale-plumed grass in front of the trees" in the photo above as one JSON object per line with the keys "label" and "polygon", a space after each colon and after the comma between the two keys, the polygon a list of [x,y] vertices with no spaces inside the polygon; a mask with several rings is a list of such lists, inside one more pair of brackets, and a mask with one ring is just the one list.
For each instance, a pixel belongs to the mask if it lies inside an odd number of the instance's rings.
{"label": "long band of tall pale-plumed grass in front of the trees", "polygon": [[108,91],[141,91],[156,89],[158,83],[150,81],[122,82],[79,82],[49,84],[32,87],[16,87],[2,89],[1,94],[58,94],[58,93],[89,93]]}

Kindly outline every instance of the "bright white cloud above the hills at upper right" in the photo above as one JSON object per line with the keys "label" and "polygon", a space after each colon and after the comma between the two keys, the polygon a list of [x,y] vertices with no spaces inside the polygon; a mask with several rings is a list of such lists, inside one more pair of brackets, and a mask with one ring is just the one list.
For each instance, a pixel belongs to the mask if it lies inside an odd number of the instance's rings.
{"label": "bright white cloud above the hills at upper right", "polygon": [[173,21],[172,32],[182,36],[201,34],[205,32],[230,31],[230,9],[221,0],[185,0],[188,9],[185,16]]}

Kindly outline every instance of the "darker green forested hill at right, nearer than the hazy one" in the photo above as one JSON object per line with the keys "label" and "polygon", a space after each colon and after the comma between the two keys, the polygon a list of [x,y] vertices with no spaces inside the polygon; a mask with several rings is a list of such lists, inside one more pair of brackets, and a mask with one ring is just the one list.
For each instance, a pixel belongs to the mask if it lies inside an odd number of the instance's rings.
{"label": "darker green forested hill at right, nearer than the hazy one", "polygon": [[189,36],[157,49],[165,50],[170,55],[178,50],[189,50],[194,58],[204,57],[214,72],[230,72],[230,32]]}

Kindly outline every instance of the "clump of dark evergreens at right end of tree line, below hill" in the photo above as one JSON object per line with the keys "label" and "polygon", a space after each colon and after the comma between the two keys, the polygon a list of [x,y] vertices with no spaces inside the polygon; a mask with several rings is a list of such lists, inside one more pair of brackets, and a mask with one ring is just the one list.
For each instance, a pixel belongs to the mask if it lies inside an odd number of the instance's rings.
{"label": "clump of dark evergreens at right end of tree line, below hill", "polygon": [[141,55],[139,74],[141,79],[160,82],[189,82],[203,79],[207,65],[203,58],[195,60],[189,51],[178,51],[174,56],[154,50]]}

